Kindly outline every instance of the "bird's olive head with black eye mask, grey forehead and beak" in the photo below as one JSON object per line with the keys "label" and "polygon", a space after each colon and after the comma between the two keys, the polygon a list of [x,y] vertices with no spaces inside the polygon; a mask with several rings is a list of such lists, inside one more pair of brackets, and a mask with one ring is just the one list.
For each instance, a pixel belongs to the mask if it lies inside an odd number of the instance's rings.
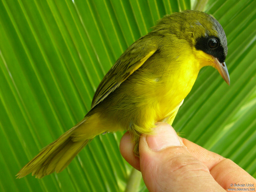
{"label": "bird's olive head with black eye mask, grey forehead and beak", "polygon": [[213,16],[200,11],[186,10],[166,15],[159,20],[155,29],[186,39],[195,50],[195,56],[201,62],[201,66],[216,68],[227,84],[230,84],[225,63],[228,52],[227,38],[222,26]]}

